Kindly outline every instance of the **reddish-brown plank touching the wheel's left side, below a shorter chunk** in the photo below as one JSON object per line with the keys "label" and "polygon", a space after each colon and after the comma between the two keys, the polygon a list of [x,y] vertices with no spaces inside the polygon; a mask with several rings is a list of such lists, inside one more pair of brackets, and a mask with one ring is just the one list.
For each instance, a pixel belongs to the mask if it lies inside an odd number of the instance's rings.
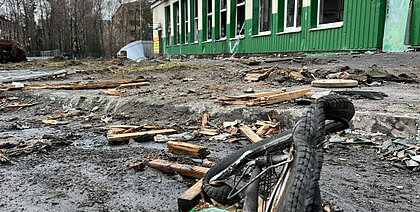
{"label": "reddish-brown plank touching the wheel's left side, below a shorter chunk", "polygon": [[186,164],[172,163],[167,160],[156,159],[149,162],[149,167],[165,173],[178,173],[183,176],[201,179],[209,171],[209,168],[191,166]]}

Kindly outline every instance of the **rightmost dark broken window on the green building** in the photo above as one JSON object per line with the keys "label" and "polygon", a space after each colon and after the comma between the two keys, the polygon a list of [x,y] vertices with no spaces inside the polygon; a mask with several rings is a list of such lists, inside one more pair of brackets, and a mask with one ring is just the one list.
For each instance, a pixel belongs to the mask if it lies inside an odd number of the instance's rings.
{"label": "rightmost dark broken window on the green building", "polygon": [[344,0],[319,0],[318,25],[343,21]]}

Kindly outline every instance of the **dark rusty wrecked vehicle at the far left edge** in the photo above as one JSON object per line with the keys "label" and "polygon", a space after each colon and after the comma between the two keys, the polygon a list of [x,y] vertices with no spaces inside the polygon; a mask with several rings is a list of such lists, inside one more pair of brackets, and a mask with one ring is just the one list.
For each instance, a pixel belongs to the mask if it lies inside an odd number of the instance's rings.
{"label": "dark rusty wrecked vehicle at the far left edge", "polygon": [[13,40],[0,40],[0,62],[27,61],[25,49]]}

